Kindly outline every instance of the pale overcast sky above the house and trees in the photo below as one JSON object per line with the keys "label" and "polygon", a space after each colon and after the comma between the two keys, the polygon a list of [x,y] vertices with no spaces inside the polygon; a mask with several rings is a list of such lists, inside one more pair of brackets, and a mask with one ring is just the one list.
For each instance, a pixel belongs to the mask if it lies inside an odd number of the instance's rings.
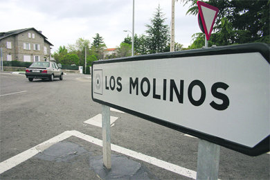
{"label": "pale overcast sky above the house and trees", "polygon": [[[156,8],[161,6],[165,24],[170,26],[171,0],[135,0],[137,35],[145,34]],[[186,15],[188,5],[175,3],[175,42],[188,47],[192,35],[199,33],[197,17]],[[59,46],[75,44],[80,37],[93,42],[96,33],[107,48],[120,46],[132,31],[132,0],[0,0],[0,32],[36,28],[48,38],[56,51]]]}

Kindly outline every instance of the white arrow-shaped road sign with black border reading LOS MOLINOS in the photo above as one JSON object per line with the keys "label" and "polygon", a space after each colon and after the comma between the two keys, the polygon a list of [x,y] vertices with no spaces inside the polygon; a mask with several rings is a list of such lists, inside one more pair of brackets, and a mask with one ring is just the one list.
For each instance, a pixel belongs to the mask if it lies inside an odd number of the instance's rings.
{"label": "white arrow-shaped road sign with black border reading LOS MOLINOS", "polygon": [[141,55],[92,67],[96,102],[251,156],[269,150],[266,44]]}

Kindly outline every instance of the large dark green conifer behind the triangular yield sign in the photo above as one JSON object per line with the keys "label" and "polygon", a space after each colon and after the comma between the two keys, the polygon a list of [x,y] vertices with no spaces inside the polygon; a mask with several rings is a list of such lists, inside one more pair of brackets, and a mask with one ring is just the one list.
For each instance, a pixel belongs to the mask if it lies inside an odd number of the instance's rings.
{"label": "large dark green conifer behind the triangular yield sign", "polygon": [[[197,0],[182,2],[185,5],[191,2],[187,14],[197,15]],[[219,33],[214,35],[216,44],[269,43],[269,0],[209,0],[206,3],[219,8],[214,26],[214,33]]]}

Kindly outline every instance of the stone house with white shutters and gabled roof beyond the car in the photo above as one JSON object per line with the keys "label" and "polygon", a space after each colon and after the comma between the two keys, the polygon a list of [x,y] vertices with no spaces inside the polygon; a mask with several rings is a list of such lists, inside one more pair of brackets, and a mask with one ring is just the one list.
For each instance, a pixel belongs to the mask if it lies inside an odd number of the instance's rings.
{"label": "stone house with white shutters and gabled roof beyond the car", "polygon": [[51,60],[51,42],[35,28],[0,33],[3,61],[37,62]]}

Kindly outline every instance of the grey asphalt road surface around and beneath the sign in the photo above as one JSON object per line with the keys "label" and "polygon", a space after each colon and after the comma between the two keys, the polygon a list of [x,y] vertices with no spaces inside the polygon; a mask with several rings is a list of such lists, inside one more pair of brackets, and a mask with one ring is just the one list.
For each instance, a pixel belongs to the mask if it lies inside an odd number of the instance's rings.
{"label": "grey asphalt road surface around and beneath the sign", "polygon": [[[102,110],[91,100],[89,75],[67,74],[62,81],[55,78],[53,82],[29,82],[25,75],[0,73],[0,80],[0,163],[12,157],[17,161],[17,154],[66,131],[102,140],[100,127],[84,123]],[[129,114],[111,111],[111,116],[118,117],[111,127],[114,145],[197,170],[197,138]],[[102,155],[102,147],[75,136],[57,145],[55,149],[50,147],[46,156],[40,152],[3,172],[0,179],[103,179],[91,167],[91,161]],[[74,153],[65,152],[71,147]],[[58,149],[65,156],[55,159],[54,151]],[[121,155],[114,151],[112,154]],[[138,179],[190,179],[136,157],[125,157],[143,167],[146,175]],[[270,179],[269,157],[246,156],[221,147],[219,179]]]}

